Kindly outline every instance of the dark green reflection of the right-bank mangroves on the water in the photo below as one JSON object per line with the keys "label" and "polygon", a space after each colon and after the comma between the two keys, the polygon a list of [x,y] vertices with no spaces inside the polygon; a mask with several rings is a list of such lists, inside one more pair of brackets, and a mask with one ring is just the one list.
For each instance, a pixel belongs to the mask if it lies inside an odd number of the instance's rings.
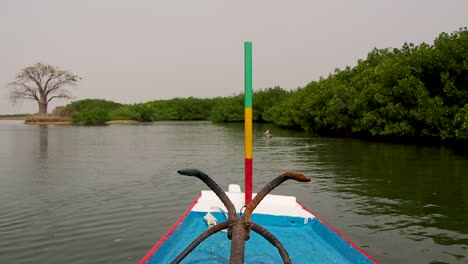
{"label": "dark green reflection of the right-bank mangroves on the water", "polygon": [[443,147],[329,141],[333,146],[318,154],[320,161],[334,165],[329,190],[349,200],[343,210],[362,221],[352,226],[366,228],[382,241],[397,239],[380,242],[380,259],[397,261],[385,256],[397,247],[386,244],[399,243],[399,254],[412,263],[414,252],[421,263],[467,261],[466,156]]}

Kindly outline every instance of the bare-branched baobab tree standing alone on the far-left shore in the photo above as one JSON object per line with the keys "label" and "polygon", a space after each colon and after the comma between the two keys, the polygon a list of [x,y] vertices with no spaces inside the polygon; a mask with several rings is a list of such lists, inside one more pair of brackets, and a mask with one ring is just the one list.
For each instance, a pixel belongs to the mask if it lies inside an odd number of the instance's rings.
{"label": "bare-branched baobab tree standing alone on the far-left shore", "polygon": [[36,63],[24,68],[16,80],[8,84],[10,101],[34,100],[39,105],[39,115],[47,115],[47,105],[56,98],[72,98],[67,86],[75,86],[81,79],[77,75],[48,64]]}

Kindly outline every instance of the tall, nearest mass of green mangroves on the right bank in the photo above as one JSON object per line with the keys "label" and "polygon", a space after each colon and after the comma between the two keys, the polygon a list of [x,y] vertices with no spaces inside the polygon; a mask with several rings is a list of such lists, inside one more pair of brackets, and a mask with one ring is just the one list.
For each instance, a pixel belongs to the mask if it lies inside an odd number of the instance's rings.
{"label": "tall, nearest mass of green mangroves on the right bank", "polygon": [[467,138],[468,30],[433,45],[373,49],[354,68],[292,92],[268,121],[324,135]]}

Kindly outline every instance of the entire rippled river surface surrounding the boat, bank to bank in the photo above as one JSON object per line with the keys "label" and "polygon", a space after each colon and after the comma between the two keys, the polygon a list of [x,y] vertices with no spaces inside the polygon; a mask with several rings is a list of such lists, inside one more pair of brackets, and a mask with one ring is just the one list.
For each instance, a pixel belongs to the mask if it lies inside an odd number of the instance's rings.
{"label": "entire rippled river surface surrounding the boat, bank to bank", "polygon": [[[274,193],[381,263],[468,263],[466,152],[254,130],[254,191],[302,172]],[[176,170],[242,185],[243,151],[242,124],[0,121],[0,263],[136,263],[206,189]]]}

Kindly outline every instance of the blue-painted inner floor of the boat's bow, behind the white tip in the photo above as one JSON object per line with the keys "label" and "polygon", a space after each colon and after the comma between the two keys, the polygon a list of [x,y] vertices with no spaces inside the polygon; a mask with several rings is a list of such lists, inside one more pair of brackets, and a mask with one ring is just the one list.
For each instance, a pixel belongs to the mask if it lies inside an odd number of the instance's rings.
{"label": "blue-painted inner floor of the boat's bow, behind the white tip", "polygon": [[[147,262],[170,263],[207,229],[206,213],[190,212],[180,226]],[[212,213],[223,221],[222,213]],[[293,263],[374,263],[319,219],[254,214],[252,220],[273,233],[287,249]],[[229,263],[231,241],[218,232],[203,241],[182,263]],[[245,263],[282,263],[268,241],[252,232],[246,242]]]}

